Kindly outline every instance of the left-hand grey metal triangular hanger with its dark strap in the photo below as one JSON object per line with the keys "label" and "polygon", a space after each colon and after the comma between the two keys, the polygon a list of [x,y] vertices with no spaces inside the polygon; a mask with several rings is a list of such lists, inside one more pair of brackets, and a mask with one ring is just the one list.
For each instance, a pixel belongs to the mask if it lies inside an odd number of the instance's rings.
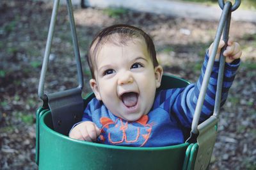
{"label": "left-hand grey metal triangular hanger with its dark strap", "polygon": [[81,58],[77,42],[76,27],[74,22],[74,15],[72,12],[71,0],[67,0],[68,17],[70,21],[70,29],[72,34],[72,42],[74,48],[74,55],[76,58],[78,86],[76,88],[59,91],[56,93],[45,94],[45,74],[49,63],[49,55],[51,52],[52,38],[54,34],[54,27],[56,25],[56,17],[58,14],[58,6],[60,0],[54,0],[51,22],[47,36],[47,42],[44,53],[44,61],[40,75],[40,82],[38,86],[38,96],[43,100],[43,107],[49,107],[52,113],[52,125],[56,132],[67,135],[74,123],[81,120],[83,114],[83,98],[81,92],[83,89],[83,71],[81,66]]}

